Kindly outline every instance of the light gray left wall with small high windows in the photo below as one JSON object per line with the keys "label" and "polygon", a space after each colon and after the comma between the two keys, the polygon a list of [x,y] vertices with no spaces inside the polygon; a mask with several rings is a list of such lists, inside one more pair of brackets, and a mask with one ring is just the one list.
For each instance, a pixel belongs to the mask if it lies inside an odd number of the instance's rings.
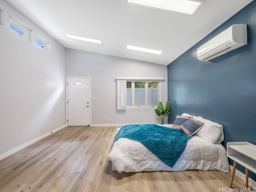
{"label": "light gray left wall with small high windows", "polygon": [[[65,48],[0,0],[0,159],[65,125]],[[50,52],[8,29],[8,15],[50,42]],[[49,126],[48,126],[49,123]]]}

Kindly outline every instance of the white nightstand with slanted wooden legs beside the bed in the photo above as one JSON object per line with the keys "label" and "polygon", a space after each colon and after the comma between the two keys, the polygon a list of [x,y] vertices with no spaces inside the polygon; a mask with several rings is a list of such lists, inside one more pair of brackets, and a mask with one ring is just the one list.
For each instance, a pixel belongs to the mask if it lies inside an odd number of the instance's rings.
{"label": "white nightstand with slanted wooden legs beside the bed", "polygon": [[227,156],[234,160],[229,187],[232,187],[237,163],[245,167],[245,181],[248,187],[249,170],[256,173],[256,145],[248,142],[228,142]]}

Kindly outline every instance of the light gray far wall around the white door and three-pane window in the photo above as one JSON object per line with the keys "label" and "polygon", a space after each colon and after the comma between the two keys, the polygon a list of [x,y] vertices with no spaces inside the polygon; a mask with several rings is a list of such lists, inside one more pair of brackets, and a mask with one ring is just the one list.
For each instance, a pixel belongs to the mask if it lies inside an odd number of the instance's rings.
{"label": "light gray far wall around the white door and three-pane window", "polygon": [[[92,126],[160,123],[155,108],[118,111],[116,77],[164,77],[162,101],[167,100],[167,66],[78,50],[66,50],[66,76],[92,78]],[[102,94],[104,93],[104,94]],[[104,116],[107,117],[104,120]],[[167,118],[166,118],[167,123]]]}

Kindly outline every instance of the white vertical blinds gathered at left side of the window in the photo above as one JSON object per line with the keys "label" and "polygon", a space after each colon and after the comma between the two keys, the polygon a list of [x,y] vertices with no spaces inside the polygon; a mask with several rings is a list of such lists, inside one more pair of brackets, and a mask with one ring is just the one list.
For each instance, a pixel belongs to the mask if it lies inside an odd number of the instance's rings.
{"label": "white vertical blinds gathered at left side of the window", "polygon": [[126,110],[126,80],[117,80],[117,110]]}

